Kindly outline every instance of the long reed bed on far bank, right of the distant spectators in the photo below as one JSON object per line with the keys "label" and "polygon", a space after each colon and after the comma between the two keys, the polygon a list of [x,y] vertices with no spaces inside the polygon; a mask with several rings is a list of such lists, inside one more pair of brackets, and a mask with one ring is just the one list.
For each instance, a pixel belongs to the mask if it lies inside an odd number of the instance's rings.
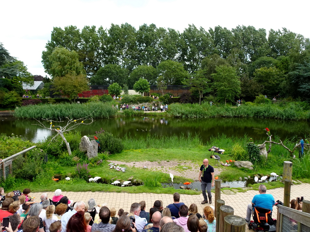
{"label": "long reed bed on far bank, right of the distant spectators", "polygon": [[251,118],[277,118],[285,120],[309,120],[310,111],[303,110],[294,103],[279,105],[229,105],[199,104],[171,104],[168,115],[180,118],[216,118],[216,117],[251,117]]}

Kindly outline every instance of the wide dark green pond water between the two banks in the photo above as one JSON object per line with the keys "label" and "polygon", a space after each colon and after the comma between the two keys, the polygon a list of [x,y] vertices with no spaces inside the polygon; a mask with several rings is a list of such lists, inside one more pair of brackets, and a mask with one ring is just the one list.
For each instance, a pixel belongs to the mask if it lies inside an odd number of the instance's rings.
{"label": "wide dark green pond water between the two banks", "polygon": [[[0,133],[21,135],[27,140],[37,142],[51,135],[51,131],[38,125],[36,120],[15,119],[13,117],[0,117]],[[49,123],[46,122],[49,126]],[[289,121],[259,118],[203,118],[183,119],[165,117],[129,117],[96,119],[91,125],[81,125],[76,130],[83,135],[94,134],[101,128],[122,138],[124,135],[132,137],[145,136],[146,133],[158,136],[198,134],[203,143],[210,140],[211,136],[225,134],[228,137],[243,137],[247,134],[254,140],[266,138],[263,130],[268,127],[272,135],[277,135],[283,141],[293,136],[304,137],[310,134],[310,124],[306,121]],[[144,132],[148,131],[148,132]],[[273,137],[274,138],[274,137]]]}

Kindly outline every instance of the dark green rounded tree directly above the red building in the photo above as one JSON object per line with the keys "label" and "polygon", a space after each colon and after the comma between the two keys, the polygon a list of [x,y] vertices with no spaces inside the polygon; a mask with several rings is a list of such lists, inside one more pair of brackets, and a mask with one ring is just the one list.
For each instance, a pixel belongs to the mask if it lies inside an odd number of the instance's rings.
{"label": "dark green rounded tree directly above the red building", "polygon": [[91,77],[92,85],[111,85],[114,82],[121,86],[127,82],[128,70],[117,64],[107,64],[101,67],[95,76]]}

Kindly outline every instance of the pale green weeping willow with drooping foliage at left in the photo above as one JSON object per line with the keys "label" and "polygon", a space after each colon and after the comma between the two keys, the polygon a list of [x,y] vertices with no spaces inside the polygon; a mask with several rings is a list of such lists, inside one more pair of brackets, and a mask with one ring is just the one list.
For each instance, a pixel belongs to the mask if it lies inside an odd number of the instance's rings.
{"label": "pale green weeping willow with drooping foliage at left", "polygon": [[75,73],[76,75],[85,74],[82,62],[78,60],[78,54],[75,51],[69,51],[65,48],[55,48],[49,56],[51,69],[47,73],[53,77],[65,76]]}

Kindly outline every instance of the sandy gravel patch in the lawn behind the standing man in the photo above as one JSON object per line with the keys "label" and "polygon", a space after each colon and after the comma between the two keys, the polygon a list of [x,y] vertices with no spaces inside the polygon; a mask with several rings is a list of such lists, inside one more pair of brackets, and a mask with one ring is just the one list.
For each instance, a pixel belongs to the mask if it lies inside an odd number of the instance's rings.
{"label": "sandy gravel patch in the lawn behind the standing man", "polygon": [[[186,178],[194,179],[198,181],[199,169],[202,164],[193,163],[191,161],[159,161],[159,162],[150,162],[150,161],[140,161],[140,162],[120,162],[115,160],[108,160],[110,163],[116,163],[117,165],[127,165],[130,167],[143,168],[145,165],[148,169],[152,171],[160,171],[163,173],[172,173],[174,176],[182,176]],[[183,169],[183,167],[188,167],[188,169]],[[191,169],[190,169],[191,167]],[[214,167],[214,166],[212,166]],[[214,167],[214,175],[218,176],[221,172],[221,169]]]}

